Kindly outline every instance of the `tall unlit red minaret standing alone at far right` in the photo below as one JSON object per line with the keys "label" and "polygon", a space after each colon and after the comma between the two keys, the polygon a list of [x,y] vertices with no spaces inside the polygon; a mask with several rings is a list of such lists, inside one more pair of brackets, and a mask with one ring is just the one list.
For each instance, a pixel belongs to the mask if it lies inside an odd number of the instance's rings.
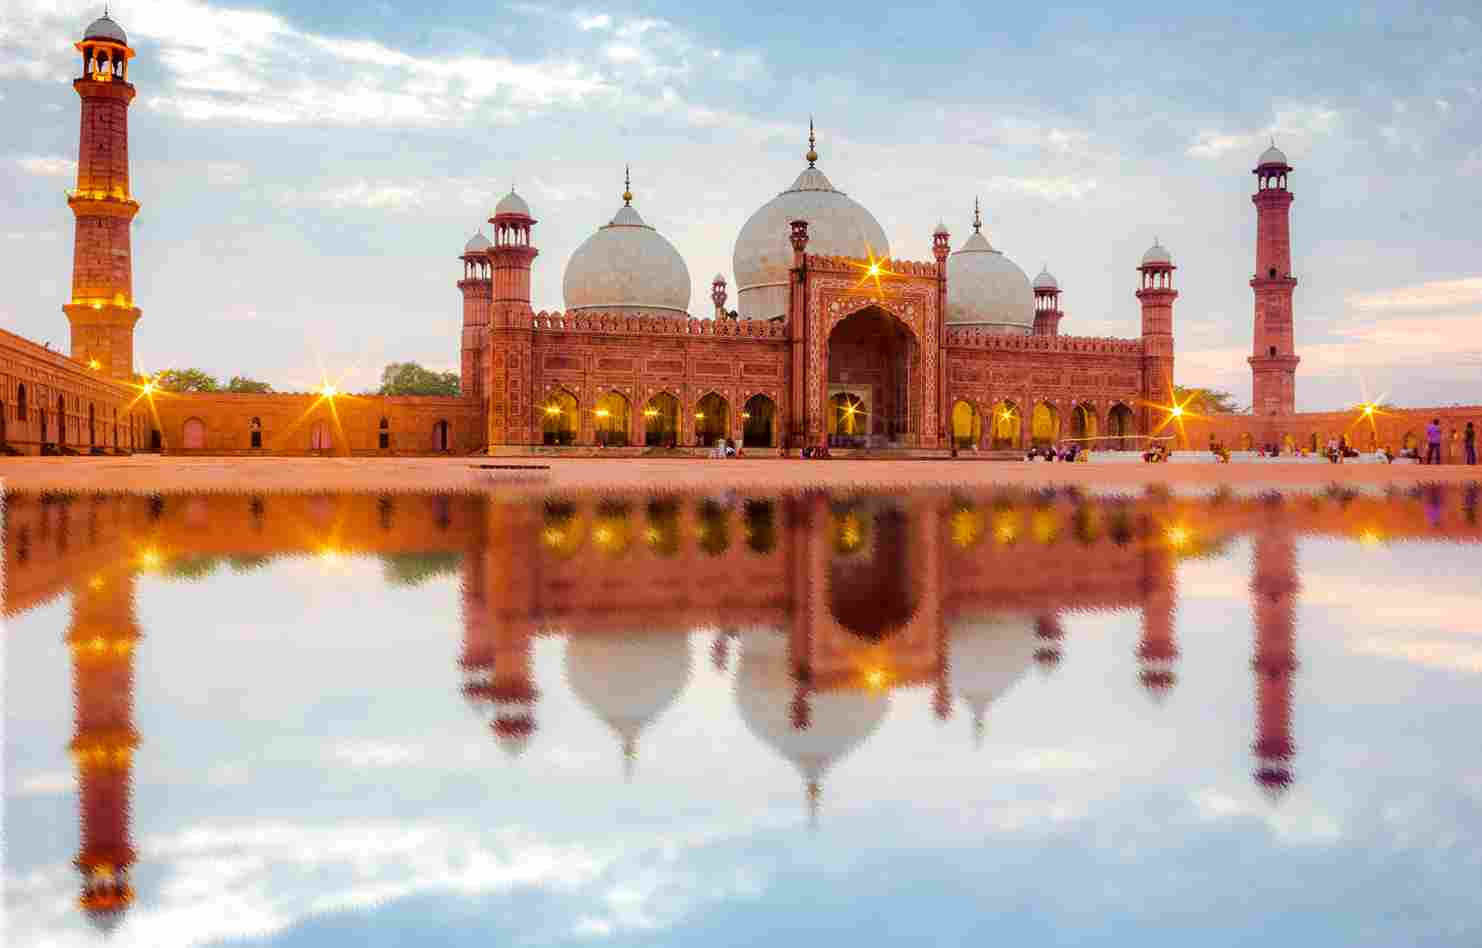
{"label": "tall unlit red minaret standing alone at far right", "polygon": [[1292,342],[1291,206],[1286,190],[1291,173],[1286,156],[1276,142],[1261,153],[1255,166],[1258,182],[1251,201],[1255,204],[1255,338],[1251,363],[1251,412],[1254,415],[1291,415],[1297,410],[1297,363]]}

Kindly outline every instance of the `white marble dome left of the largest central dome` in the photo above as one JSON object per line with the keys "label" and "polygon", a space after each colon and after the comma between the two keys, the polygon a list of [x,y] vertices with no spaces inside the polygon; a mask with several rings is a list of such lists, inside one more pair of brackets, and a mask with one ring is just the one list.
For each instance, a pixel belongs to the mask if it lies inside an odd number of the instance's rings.
{"label": "white marble dome left of the largest central dome", "polygon": [[568,310],[688,316],[689,268],[668,240],[624,203],[566,262]]}

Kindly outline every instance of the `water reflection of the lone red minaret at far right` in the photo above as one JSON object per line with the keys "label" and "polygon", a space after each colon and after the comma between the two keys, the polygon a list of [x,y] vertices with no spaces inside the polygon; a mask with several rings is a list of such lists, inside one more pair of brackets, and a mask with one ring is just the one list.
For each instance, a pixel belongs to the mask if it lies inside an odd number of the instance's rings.
{"label": "water reflection of the lone red minaret at far right", "polygon": [[1279,527],[1255,535],[1255,781],[1273,798],[1292,782],[1292,674],[1297,671],[1297,539]]}

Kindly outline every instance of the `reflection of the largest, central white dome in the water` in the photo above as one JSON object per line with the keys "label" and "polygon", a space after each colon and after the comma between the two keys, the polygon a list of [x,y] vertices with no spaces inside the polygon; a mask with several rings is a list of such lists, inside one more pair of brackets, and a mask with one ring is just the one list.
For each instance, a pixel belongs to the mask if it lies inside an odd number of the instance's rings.
{"label": "reflection of the largest, central white dome in the water", "polygon": [[823,778],[885,720],[885,692],[811,692],[808,720],[794,715],[797,684],[787,668],[787,640],[777,632],[750,632],[741,647],[737,704],[747,730],[797,767],[817,807]]}

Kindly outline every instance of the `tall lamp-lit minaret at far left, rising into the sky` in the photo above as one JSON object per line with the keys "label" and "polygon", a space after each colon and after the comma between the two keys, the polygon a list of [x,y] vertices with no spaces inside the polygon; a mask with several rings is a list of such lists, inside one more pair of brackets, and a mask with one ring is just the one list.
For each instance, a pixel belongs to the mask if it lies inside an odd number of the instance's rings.
{"label": "tall lamp-lit minaret at far left, rising into the sky", "polygon": [[139,201],[129,193],[127,81],[133,50],[123,28],[104,13],[77,43],[83,74],[73,80],[82,98],[77,188],[67,206],[77,218],[73,243],[73,296],[62,307],[73,329],[71,356],[99,375],[133,379],[133,264],[129,224]]}

